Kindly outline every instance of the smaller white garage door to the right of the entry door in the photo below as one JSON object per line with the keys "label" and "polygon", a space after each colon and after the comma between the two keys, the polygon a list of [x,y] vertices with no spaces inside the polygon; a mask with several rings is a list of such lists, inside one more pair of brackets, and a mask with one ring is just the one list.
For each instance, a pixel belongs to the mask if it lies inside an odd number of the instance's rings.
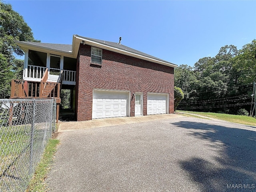
{"label": "smaller white garage door to the right of the entry door", "polygon": [[147,114],[164,114],[167,112],[168,94],[148,93]]}

